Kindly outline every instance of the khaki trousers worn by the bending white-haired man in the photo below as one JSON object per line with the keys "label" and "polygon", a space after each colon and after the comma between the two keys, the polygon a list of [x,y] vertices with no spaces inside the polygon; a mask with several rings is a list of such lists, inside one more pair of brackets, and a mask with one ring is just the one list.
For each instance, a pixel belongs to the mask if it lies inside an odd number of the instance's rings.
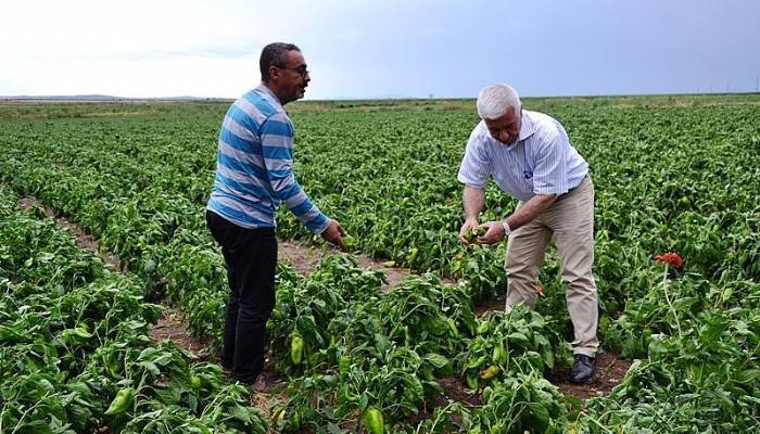
{"label": "khaki trousers worn by the bending white-haired man", "polygon": [[[518,209],[522,203],[518,205]],[[574,330],[573,353],[596,355],[598,305],[594,264],[594,184],[586,177],[578,188],[563,194],[552,206],[509,234],[506,309],[518,304],[535,304],[539,269],[554,233],[561,258],[562,282]]]}

